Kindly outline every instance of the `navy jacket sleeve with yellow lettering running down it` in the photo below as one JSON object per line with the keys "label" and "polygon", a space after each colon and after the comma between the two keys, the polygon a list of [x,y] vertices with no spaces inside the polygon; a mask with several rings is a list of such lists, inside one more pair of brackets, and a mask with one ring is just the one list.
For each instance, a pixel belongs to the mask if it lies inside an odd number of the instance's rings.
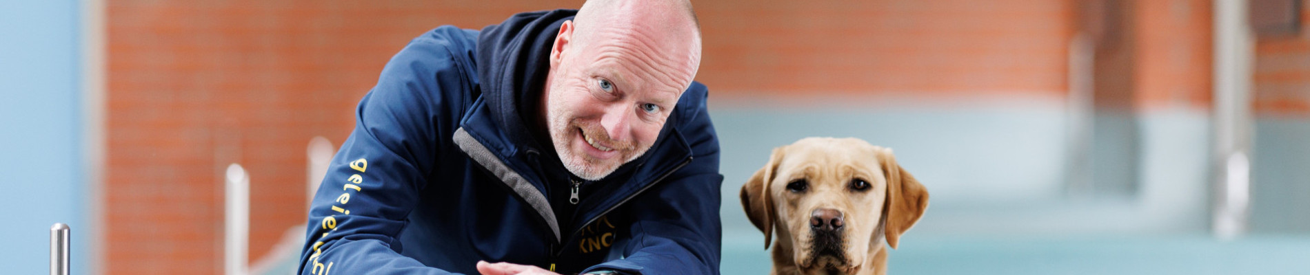
{"label": "navy jacket sleeve with yellow lettering running down it", "polygon": [[299,274],[449,274],[398,253],[406,215],[448,138],[439,133],[457,124],[460,89],[472,86],[460,68],[468,63],[451,53],[458,30],[438,31],[392,57],[360,100],[355,129],[310,203]]}

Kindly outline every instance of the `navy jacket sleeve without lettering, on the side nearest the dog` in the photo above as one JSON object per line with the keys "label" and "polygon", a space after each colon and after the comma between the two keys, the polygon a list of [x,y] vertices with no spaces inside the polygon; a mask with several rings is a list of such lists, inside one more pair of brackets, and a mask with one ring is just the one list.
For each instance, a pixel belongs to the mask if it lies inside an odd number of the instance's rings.
{"label": "navy jacket sleeve without lettering, on the side nearest the dog", "polygon": [[692,162],[634,198],[631,240],[624,258],[588,268],[622,274],[719,274],[722,223],[718,134],[705,106],[705,86],[693,82],[684,96],[701,96],[680,132],[692,146]]}

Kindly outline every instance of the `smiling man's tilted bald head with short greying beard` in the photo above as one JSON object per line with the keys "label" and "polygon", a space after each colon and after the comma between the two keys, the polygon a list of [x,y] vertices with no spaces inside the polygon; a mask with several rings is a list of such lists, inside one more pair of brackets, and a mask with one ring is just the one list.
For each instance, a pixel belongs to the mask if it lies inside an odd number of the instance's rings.
{"label": "smiling man's tilted bald head with short greying beard", "polygon": [[544,93],[559,160],[600,180],[646,152],[701,64],[686,0],[591,0],[559,27]]}

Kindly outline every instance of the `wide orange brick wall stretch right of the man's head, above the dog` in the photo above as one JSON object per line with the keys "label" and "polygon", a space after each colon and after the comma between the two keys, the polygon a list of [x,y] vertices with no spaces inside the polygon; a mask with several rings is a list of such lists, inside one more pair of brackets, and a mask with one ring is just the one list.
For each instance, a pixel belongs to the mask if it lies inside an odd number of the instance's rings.
{"label": "wide orange brick wall stretch right of the man's head, above the dog", "polygon": [[697,1],[715,95],[1053,95],[1073,3]]}

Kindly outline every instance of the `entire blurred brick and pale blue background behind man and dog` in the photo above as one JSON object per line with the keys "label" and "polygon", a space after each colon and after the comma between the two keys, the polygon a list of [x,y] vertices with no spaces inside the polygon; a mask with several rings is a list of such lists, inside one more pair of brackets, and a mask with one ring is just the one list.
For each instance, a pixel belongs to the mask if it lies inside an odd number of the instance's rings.
{"label": "entire blurred brick and pale blue background behind man and dog", "polygon": [[[768,272],[738,192],[808,136],[927,186],[895,274],[1310,274],[1310,1],[693,4],[724,274]],[[75,274],[292,272],[314,163],[393,53],[580,5],[7,0],[0,266],[46,272],[62,222]]]}

